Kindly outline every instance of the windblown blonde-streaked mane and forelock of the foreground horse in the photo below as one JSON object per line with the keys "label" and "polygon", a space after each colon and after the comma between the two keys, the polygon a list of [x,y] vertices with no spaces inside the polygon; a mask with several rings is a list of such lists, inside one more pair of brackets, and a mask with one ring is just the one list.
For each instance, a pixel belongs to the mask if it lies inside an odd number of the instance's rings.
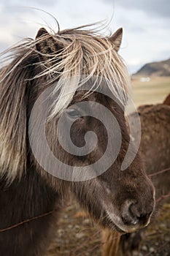
{"label": "windblown blonde-streaked mane and forelock of the foreground horse", "polygon": [[4,55],[8,64],[0,71],[0,167],[2,174],[12,171],[9,177],[22,175],[26,168],[28,84],[39,80],[43,86],[56,84],[50,118],[67,108],[77,89],[93,77],[94,86],[104,79],[123,105],[127,100],[130,79],[123,59],[109,37],[87,26],[24,39]]}

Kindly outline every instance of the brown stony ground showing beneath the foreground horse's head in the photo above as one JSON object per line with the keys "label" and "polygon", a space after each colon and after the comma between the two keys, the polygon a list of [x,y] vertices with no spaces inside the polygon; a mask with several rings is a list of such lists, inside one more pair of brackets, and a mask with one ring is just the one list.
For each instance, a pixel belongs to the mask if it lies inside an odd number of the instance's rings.
{"label": "brown stony ground showing beneath the foreground horse's head", "polygon": [[[139,256],[170,256],[170,203],[165,203],[155,222],[147,228]],[[92,223],[76,204],[67,206],[56,237],[46,256],[101,256],[101,228]]]}

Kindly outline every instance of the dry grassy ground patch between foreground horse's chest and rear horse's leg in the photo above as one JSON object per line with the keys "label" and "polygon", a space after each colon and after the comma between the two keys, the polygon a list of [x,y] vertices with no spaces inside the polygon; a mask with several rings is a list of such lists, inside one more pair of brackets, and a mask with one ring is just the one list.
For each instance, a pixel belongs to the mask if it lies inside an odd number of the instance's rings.
{"label": "dry grassy ground patch between foreground horse's chest and rear horse's leg", "polygon": [[101,230],[76,203],[65,208],[55,228],[46,256],[101,256]]}

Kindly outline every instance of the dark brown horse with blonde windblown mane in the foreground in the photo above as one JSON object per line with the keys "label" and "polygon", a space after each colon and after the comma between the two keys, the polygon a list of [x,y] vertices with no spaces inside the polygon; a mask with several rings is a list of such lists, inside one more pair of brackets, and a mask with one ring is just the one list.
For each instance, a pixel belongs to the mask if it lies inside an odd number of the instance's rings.
{"label": "dark brown horse with blonde windblown mane in the foreground", "polygon": [[[131,142],[125,121],[129,75],[118,53],[122,37],[122,29],[102,36],[86,26],[57,33],[42,28],[35,39],[5,51],[0,70],[0,255],[44,255],[69,195],[102,227],[125,233],[149,224],[155,189],[139,153],[121,169]],[[107,110],[117,120],[105,119],[108,130],[100,120]],[[100,162],[107,144],[109,155]],[[82,154],[85,146],[91,150]]]}

